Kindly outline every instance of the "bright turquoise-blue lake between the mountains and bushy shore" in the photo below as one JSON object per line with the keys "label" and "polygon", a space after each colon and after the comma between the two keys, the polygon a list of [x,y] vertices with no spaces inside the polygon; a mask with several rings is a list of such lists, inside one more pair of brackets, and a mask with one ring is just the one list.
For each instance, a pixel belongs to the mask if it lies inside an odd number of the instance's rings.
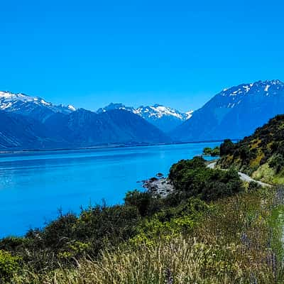
{"label": "bright turquoise-blue lake between the mountains and bushy shore", "polygon": [[62,212],[90,204],[118,204],[127,191],[170,165],[200,155],[206,146],[164,146],[11,153],[0,155],[0,237],[42,228]]}

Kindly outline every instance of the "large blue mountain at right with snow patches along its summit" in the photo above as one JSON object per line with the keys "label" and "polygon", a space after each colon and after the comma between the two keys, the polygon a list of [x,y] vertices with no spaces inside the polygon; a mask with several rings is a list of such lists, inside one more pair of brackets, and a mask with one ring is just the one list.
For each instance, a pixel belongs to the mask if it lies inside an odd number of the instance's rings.
{"label": "large blue mountain at right with snow patches along its summit", "polygon": [[283,82],[240,84],[224,89],[170,134],[177,141],[243,138],[283,113]]}

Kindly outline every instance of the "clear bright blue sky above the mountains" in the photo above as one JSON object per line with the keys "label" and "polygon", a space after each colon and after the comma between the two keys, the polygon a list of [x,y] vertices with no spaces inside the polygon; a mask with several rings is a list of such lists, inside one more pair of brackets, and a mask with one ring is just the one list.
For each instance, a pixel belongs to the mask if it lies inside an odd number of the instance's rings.
{"label": "clear bright blue sky above the mountains", "polygon": [[0,89],[95,110],[197,109],[284,80],[281,1],[1,1]]}

